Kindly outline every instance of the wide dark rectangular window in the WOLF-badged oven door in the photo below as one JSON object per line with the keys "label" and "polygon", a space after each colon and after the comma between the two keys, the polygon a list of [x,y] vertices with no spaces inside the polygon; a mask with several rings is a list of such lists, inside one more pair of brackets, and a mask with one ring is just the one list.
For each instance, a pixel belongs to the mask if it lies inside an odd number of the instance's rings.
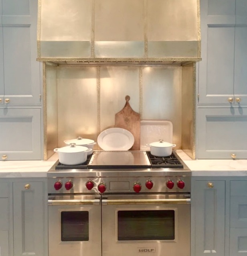
{"label": "wide dark rectangular window in the WOLF-badged oven door", "polygon": [[174,240],[174,216],[173,210],[118,211],[118,240]]}

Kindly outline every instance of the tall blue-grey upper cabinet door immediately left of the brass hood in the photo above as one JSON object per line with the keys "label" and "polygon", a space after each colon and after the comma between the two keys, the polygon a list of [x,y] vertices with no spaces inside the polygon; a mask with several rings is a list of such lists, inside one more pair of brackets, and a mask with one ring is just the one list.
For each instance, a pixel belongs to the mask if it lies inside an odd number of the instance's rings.
{"label": "tall blue-grey upper cabinet door immediately left of the brass hood", "polygon": [[[40,104],[40,63],[36,61],[37,10],[38,1],[2,0],[0,95],[4,87],[4,104]],[[1,51],[0,42],[0,55]]]}

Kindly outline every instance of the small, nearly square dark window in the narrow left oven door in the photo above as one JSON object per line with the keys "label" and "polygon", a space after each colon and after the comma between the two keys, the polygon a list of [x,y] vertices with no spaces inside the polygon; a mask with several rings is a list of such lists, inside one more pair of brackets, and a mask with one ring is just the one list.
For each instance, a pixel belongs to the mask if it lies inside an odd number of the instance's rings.
{"label": "small, nearly square dark window in the narrow left oven door", "polygon": [[88,211],[61,212],[61,241],[88,241]]}

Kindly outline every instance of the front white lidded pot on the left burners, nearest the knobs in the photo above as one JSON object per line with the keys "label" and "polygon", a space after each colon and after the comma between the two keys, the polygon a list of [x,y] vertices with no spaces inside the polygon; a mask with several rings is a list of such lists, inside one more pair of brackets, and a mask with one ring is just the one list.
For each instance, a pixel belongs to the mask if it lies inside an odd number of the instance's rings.
{"label": "front white lidded pot on the left burners, nearest the knobs", "polygon": [[59,162],[65,165],[83,164],[87,160],[87,153],[93,152],[91,148],[75,145],[55,148],[54,152],[59,155]]}

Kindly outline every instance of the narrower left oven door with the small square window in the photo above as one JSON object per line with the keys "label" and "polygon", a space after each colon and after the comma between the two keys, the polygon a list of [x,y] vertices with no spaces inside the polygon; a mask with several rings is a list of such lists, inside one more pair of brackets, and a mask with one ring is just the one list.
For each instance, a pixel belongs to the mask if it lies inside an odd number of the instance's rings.
{"label": "narrower left oven door with the small square window", "polygon": [[49,256],[101,256],[101,205],[95,195],[49,196]]}

